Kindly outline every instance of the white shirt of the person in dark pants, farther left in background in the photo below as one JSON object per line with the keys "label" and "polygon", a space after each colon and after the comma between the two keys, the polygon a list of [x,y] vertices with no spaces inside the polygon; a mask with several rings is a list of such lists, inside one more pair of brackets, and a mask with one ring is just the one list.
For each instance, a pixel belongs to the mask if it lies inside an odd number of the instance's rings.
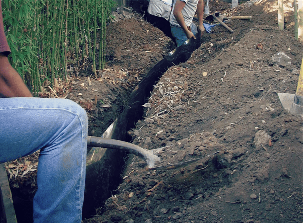
{"label": "white shirt of the person in dark pants, farther left in background", "polygon": [[172,4],[172,0],[171,1],[169,1],[169,0],[149,1],[147,12],[151,15],[162,17],[162,18],[168,20],[170,12],[171,12],[171,4]]}

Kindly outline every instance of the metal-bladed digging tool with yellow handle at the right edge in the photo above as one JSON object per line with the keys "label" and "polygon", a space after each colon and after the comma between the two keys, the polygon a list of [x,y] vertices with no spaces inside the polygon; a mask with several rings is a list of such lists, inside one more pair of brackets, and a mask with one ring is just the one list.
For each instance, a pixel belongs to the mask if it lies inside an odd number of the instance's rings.
{"label": "metal-bladed digging tool with yellow handle at the right edge", "polygon": [[302,115],[302,69],[303,69],[303,59],[301,62],[301,70],[299,75],[299,81],[297,86],[297,91],[295,94],[288,93],[278,93],[278,97],[281,101],[283,108],[288,110],[292,115]]}

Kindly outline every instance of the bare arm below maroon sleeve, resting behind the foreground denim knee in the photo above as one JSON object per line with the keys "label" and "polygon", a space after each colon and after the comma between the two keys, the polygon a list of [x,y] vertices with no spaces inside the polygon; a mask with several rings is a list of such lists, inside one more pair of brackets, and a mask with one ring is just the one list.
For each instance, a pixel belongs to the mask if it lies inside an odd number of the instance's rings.
{"label": "bare arm below maroon sleeve, resting behind the foreground denim knee", "polygon": [[7,98],[32,97],[22,78],[3,53],[0,53],[0,95]]}

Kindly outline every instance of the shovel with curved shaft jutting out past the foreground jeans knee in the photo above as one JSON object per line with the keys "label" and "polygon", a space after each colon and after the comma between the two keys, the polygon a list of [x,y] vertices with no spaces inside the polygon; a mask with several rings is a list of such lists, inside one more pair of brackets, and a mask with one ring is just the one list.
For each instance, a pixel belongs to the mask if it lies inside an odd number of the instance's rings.
{"label": "shovel with curved shaft jutting out past the foreground jeans knee", "polygon": [[124,142],[124,141],[116,140],[116,139],[106,139],[106,138],[101,138],[101,137],[96,137],[96,136],[87,136],[87,145],[108,148],[108,149],[120,149],[123,151],[127,151],[129,153],[133,153],[133,154],[141,157],[142,159],[144,159],[148,165],[148,168],[153,169],[153,170],[176,169],[181,166],[186,166],[190,163],[201,160],[205,157],[212,156],[212,155],[215,155],[216,153],[219,153],[219,151],[217,151],[215,153],[209,154],[204,157],[200,157],[200,158],[197,158],[194,160],[188,160],[188,161],[181,162],[181,163],[170,164],[167,166],[155,166],[155,162],[160,161],[160,157],[154,155],[153,151],[157,151],[161,148],[153,149],[153,150],[146,150],[146,149],[141,148],[140,146],[136,146],[129,142]]}

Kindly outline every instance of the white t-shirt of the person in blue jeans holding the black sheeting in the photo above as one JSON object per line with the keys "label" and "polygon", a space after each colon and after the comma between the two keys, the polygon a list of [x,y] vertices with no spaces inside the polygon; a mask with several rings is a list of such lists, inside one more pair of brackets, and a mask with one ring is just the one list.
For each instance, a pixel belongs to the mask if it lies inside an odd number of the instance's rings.
{"label": "white t-shirt of the person in blue jeans holding the black sheeting", "polygon": [[[186,3],[184,8],[181,10],[183,18],[184,18],[184,22],[185,22],[186,26],[190,26],[191,22],[192,22],[192,18],[194,18],[194,15],[196,13],[197,5],[198,5],[199,1],[198,0],[195,0],[195,1],[194,0],[188,0],[188,1],[182,0],[182,1]],[[174,1],[172,12],[175,9],[175,4],[176,4],[176,1]],[[173,26],[180,26],[173,13],[171,13],[171,15],[170,15],[170,24]]]}

